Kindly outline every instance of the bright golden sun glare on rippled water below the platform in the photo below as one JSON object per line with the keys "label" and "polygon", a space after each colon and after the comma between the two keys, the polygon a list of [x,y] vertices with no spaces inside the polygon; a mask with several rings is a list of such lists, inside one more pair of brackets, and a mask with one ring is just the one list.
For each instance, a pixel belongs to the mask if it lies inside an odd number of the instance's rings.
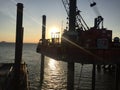
{"label": "bright golden sun glare on rippled water below the platform", "polygon": [[66,90],[66,64],[46,57],[42,90]]}

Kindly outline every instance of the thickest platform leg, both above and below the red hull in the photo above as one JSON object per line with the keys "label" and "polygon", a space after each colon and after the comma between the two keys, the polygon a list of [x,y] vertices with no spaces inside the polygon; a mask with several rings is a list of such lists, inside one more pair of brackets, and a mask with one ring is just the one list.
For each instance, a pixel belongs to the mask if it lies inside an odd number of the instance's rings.
{"label": "thickest platform leg, both above and below the red hull", "polygon": [[[76,0],[69,0],[69,39],[73,40],[76,22]],[[74,62],[68,62],[67,90],[74,90]]]}

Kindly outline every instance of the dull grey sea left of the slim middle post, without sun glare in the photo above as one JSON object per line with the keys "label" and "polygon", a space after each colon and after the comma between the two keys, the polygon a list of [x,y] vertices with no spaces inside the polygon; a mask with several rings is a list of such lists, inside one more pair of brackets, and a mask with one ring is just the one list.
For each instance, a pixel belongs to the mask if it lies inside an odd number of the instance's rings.
{"label": "dull grey sea left of the slim middle post, without sun glare", "polygon": [[[30,90],[40,90],[40,54],[36,53],[36,44],[23,45],[23,61],[27,63],[29,71]],[[14,62],[15,44],[0,43],[0,63]]]}

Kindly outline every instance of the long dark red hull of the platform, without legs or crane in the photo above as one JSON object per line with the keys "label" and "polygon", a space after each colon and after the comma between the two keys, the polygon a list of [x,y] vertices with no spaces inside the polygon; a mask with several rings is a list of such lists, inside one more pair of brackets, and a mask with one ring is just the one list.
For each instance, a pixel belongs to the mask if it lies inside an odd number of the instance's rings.
{"label": "long dark red hull of the platform, without legs or crane", "polygon": [[63,47],[62,45],[39,44],[37,52],[56,60],[84,64],[118,64],[120,48],[87,49],[82,47]]}

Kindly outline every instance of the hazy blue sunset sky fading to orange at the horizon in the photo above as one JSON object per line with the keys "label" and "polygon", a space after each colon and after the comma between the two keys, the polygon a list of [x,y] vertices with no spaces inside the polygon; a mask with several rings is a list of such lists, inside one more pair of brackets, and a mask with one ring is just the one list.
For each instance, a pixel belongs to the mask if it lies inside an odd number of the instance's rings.
{"label": "hazy blue sunset sky fading to orange at the horizon", "polygon": [[[120,37],[120,0],[77,0],[77,7],[89,27],[97,17],[90,2],[95,1],[104,27],[113,30],[113,37]],[[0,41],[15,42],[17,3],[23,3],[24,42],[37,43],[42,33],[42,15],[46,15],[46,38],[56,27],[62,33],[66,27],[67,14],[62,0],[0,0]]]}

